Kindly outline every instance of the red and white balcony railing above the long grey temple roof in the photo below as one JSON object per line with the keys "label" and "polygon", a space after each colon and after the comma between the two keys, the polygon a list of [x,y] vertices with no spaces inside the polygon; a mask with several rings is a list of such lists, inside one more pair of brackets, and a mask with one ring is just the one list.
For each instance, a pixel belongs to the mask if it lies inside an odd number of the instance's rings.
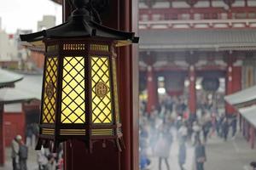
{"label": "red and white balcony railing above the long grey temple roof", "polygon": [[256,27],[256,7],[141,8],[140,29]]}

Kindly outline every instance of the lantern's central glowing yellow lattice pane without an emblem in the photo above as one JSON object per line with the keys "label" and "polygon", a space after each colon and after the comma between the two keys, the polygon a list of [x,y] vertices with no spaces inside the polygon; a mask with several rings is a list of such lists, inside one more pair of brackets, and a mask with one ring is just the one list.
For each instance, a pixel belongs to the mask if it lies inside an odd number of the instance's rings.
{"label": "lantern's central glowing yellow lattice pane without an emblem", "polygon": [[61,123],[85,122],[84,57],[63,59]]}

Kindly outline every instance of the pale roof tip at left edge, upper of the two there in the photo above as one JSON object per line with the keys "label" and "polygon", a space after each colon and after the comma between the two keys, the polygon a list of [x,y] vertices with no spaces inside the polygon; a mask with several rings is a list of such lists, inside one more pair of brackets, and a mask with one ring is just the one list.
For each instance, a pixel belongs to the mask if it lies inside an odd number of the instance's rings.
{"label": "pale roof tip at left edge, upper of the two there", "polygon": [[0,69],[0,88],[12,87],[15,82],[22,80],[22,78],[19,74]]}

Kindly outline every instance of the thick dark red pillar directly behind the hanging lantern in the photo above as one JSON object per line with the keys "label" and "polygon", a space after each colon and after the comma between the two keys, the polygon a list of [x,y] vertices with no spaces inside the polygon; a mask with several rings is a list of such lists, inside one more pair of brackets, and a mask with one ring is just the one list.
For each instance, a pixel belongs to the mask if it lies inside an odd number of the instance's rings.
{"label": "thick dark red pillar directly behind the hanging lantern", "polygon": [[[123,31],[137,31],[137,0],[112,0],[108,14],[102,16],[104,26]],[[68,3],[63,3],[64,20],[67,19]],[[118,51],[119,103],[125,150],[121,153],[113,147],[95,144],[92,154],[84,143],[70,141],[65,144],[66,170],[138,170],[138,54],[137,47],[123,47]]]}

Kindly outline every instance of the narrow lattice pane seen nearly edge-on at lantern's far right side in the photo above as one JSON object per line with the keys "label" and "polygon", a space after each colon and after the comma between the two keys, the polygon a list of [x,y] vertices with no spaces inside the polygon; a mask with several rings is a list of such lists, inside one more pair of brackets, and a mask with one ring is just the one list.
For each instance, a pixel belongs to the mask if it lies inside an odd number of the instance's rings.
{"label": "narrow lattice pane seen nearly edge-on at lantern's far right side", "polygon": [[114,96],[114,109],[116,122],[120,122],[119,120],[119,95],[117,90],[117,75],[116,75],[116,60],[112,58],[112,66],[113,66],[113,96]]}

